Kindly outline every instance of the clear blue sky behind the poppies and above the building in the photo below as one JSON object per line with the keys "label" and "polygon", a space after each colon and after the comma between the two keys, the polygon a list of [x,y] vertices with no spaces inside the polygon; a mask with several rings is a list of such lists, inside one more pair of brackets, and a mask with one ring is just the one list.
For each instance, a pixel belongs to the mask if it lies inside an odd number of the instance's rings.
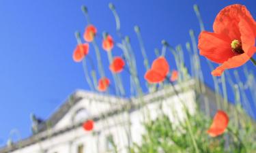
{"label": "clear blue sky behind the poppies and above the building", "polygon": [[[76,46],[74,32],[83,31],[87,24],[81,12],[81,5],[87,5],[91,22],[98,31],[115,33],[115,20],[108,7],[109,2],[115,4],[122,33],[131,37],[138,59],[141,52],[134,25],[141,27],[150,63],[154,59],[154,48],[161,48],[162,39],[167,39],[172,46],[182,44],[185,49],[184,44],[190,40],[189,29],[199,34],[199,24],[193,11],[195,3],[201,9],[208,31],[212,31],[216,14],[233,3],[246,5],[256,18],[255,0],[1,0],[0,146],[14,128],[20,131],[22,137],[31,134],[31,112],[48,118],[74,90],[89,89],[81,63],[72,61]],[[113,37],[115,39],[117,35]],[[113,52],[121,54],[117,48]],[[106,54],[102,58],[105,59],[102,62],[108,65]],[[167,59],[171,61],[173,57]],[[206,65],[204,58],[201,59]],[[251,63],[247,65],[256,73]],[[139,69],[143,76],[145,70],[142,63]],[[203,67],[203,71],[206,82],[212,84],[210,70]]]}

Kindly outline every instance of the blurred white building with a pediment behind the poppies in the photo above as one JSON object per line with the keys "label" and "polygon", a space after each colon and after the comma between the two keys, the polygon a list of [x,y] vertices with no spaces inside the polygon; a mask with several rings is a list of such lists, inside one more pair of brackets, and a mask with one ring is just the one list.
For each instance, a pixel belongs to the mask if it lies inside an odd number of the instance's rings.
{"label": "blurred white building with a pediment behind the poppies", "polygon": [[[199,99],[204,101],[205,95],[212,99],[208,102],[214,112],[214,92],[202,86],[205,94],[199,95]],[[165,112],[175,122],[184,115],[182,102],[191,113],[195,111],[195,80],[175,85],[175,90],[179,96],[168,86],[141,99],[77,90],[48,120],[34,124],[37,133],[0,148],[0,153],[102,153],[111,152],[111,141],[115,142],[118,152],[128,152],[130,143],[141,141],[143,120],[154,119]],[[201,106],[204,109],[203,103]],[[93,131],[85,131],[81,126],[88,118],[95,122]]]}

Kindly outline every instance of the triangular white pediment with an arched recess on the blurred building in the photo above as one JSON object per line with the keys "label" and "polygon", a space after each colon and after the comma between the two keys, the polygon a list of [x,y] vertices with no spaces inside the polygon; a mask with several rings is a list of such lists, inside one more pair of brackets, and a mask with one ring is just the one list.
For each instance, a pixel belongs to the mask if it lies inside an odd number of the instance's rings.
{"label": "triangular white pediment with an arched recess on the blurred building", "polygon": [[120,99],[109,95],[97,94],[85,90],[77,90],[66,100],[57,111],[46,120],[40,131],[51,128],[54,131],[78,124],[94,118],[113,108],[121,107],[127,99]]}

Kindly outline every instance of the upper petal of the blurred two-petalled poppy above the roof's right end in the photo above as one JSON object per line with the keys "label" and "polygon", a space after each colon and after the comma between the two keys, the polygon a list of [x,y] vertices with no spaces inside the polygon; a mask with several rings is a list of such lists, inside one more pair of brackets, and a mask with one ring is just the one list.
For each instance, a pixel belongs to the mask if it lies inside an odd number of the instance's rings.
{"label": "upper petal of the blurred two-petalled poppy above the roof's right end", "polygon": [[152,63],[152,70],[165,77],[169,73],[169,65],[165,57],[159,57]]}

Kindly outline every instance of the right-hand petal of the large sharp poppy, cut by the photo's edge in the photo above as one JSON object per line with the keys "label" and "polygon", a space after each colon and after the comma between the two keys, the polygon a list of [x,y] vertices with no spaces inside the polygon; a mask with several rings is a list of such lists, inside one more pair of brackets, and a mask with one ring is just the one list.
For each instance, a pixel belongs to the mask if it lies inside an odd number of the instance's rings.
{"label": "right-hand petal of the large sharp poppy, cut by the photo's edge", "polygon": [[252,46],[255,46],[255,36],[253,35],[253,29],[250,24],[241,18],[239,22],[239,28],[241,33],[242,49],[248,56],[253,56],[255,50],[250,50]]}

